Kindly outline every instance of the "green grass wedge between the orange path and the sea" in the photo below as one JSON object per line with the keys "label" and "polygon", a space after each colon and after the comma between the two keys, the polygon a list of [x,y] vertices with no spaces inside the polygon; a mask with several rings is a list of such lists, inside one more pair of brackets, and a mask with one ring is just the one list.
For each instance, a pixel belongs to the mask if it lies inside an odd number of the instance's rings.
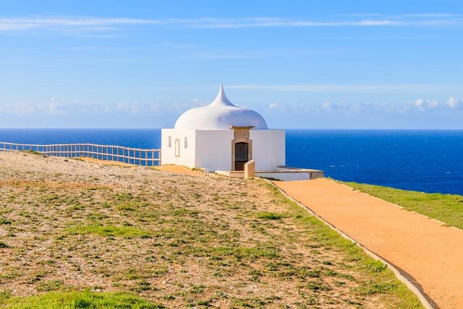
{"label": "green grass wedge between the orange path and the sea", "polygon": [[402,206],[409,211],[422,213],[453,227],[463,229],[463,196],[441,193],[406,191],[387,186],[344,182],[359,191],[379,197],[381,200]]}

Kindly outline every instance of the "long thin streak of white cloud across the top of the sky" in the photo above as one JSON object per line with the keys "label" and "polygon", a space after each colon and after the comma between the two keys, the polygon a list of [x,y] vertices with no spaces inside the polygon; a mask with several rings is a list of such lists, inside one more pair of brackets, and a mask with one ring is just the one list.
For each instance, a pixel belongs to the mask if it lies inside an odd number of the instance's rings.
{"label": "long thin streak of white cloud across the top of the sky", "polygon": [[[462,24],[462,15],[416,14],[416,15],[350,15],[346,20],[284,19],[278,17],[248,18],[186,18],[186,19],[138,19],[102,17],[22,17],[0,18],[0,31],[30,30],[37,28],[84,28],[89,31],[115,30],[116,26],[152,24],[159,26],[181,26],[184,28],[275,28],[275,27],[339,27],[339,26],[449,26]],[[337,16],[339,18],[339,15]],[[367,19],[352,19],[367,17]]]}

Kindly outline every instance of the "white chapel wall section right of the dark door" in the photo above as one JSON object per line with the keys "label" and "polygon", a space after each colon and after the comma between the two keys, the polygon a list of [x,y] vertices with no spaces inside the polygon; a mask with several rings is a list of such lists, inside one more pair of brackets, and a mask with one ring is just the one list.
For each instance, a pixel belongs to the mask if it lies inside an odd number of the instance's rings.
{"label": "white chapel wall section right of the dark door", "polygon": [[249,138],[255,170],[275,170],[286,164],[284,130],[250,130]]}

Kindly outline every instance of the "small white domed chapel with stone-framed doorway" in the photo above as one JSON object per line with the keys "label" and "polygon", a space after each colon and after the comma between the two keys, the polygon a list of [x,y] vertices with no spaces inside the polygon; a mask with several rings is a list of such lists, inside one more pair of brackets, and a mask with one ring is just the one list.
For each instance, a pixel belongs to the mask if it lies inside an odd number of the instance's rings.
{"label": "small white domed chapel with stone-framed doorway", "polygon": [[285,164],[284,130],[270,130],[257,112],[233,105],[221,86],[205,107],[190,109],[174,129],[163,129],[161,164],[212,171],[277,170]]}

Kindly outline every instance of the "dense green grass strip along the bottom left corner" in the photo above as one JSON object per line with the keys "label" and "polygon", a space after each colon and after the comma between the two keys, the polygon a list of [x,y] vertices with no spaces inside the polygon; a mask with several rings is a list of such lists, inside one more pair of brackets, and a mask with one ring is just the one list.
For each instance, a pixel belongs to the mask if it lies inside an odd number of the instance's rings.
{"label": "dense green grass strip along the bottom left corner", "polygon": [[118,292],[48,292],[32,297],[10,297],[0,294],[5,309],[158,309],[165,308],[129,293]]}

